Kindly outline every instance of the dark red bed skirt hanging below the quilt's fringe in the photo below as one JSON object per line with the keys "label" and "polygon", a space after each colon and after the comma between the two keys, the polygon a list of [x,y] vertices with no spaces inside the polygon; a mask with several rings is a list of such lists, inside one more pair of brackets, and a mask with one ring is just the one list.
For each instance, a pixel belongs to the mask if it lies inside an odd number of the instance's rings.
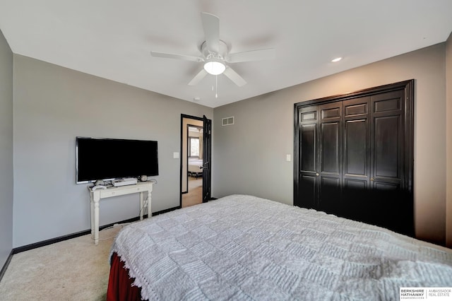
{"label": "dark red bed skirt hanging below the quilt's fringe", "polygon": [[134,278],[129,278],[129,271],[124,267],[116,253],[112,254],[110,276],[108,279],[107,301],[141,300],[141,288],[133,286]]}

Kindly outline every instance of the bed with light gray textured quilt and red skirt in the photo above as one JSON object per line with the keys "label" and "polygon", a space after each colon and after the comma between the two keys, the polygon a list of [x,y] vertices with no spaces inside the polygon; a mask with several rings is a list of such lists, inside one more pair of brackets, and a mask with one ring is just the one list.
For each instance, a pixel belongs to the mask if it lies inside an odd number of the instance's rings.
{"label": "bed with light gray textured quilt and red skirt", "polygon": [[124,227],[107,300],[398,300],[452,287],[452,249],[231,195]]}

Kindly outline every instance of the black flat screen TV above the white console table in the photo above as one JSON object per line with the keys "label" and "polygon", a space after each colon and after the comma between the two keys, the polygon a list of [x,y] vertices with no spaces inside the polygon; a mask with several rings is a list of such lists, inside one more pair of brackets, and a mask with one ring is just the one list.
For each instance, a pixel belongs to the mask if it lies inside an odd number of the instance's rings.
{"label": "black flat screen TV above the white console table", "polygon": [[157,141],[76,137],[76,182],[158,175]]}

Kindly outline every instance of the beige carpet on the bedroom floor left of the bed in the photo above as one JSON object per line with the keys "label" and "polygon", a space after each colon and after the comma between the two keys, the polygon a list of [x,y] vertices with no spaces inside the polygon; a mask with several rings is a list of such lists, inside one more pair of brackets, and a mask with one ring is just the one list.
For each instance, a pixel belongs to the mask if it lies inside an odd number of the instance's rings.
{"label": "beige carpet on the bedroom floor left of the bed", "polygon": [[121,226],[14,254],[0,282],[0,300],[105,300],[109,250]]}

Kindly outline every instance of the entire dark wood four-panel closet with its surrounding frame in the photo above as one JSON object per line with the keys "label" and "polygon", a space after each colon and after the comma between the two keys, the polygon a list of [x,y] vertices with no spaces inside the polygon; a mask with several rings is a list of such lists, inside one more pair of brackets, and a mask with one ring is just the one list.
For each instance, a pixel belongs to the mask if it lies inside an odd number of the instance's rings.
{"label": "entire dark wood four-panel closet with its surrounding frame", "polygon": [[414,235],[413,83],[295,104],[296,206]]}

